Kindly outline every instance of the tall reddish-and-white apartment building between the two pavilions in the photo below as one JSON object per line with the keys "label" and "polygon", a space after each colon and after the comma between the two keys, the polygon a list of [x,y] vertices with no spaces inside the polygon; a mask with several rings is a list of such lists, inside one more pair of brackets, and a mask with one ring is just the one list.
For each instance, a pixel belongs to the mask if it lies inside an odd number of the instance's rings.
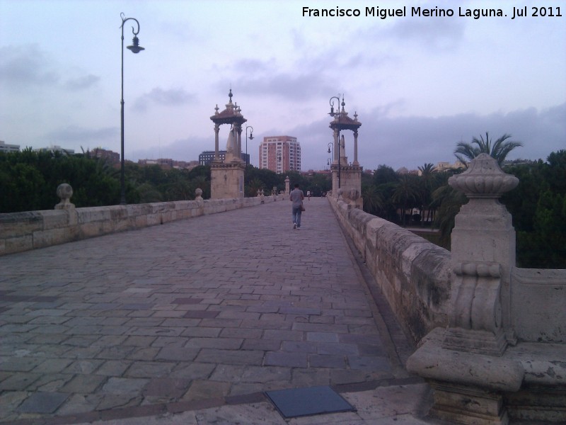
{"label": "tall reddish-and-white apartment building between the two pavilions", "polygon": [[301,144],[296,137],[263,137],[260,143],[260,169],[270,169],[277,174],[301,171]]}

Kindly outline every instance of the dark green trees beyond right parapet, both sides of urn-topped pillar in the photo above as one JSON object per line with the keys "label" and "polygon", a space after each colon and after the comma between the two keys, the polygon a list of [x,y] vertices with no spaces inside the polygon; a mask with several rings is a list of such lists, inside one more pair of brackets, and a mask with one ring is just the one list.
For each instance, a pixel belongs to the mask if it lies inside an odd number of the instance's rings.
{"label": "dark green trees beyond right parapet, both sides of urn-topped pillar", "polygon": [[[379,166],[373,180],[362,179],[364,210],[400,225],[433,225],[439,229],[439,244],[449,246],[454,217],[467,199],[448,179],[461,171],[437,173],[430,164],[419,169],[421,176],[399,175]],[[506,166],[504,171],[519,178],[519,186],[501,198],[513,217],[517,266],[566,268],[566,150],[551,153],[546,162]],[[426,215],[403,213],[412,208]]]}

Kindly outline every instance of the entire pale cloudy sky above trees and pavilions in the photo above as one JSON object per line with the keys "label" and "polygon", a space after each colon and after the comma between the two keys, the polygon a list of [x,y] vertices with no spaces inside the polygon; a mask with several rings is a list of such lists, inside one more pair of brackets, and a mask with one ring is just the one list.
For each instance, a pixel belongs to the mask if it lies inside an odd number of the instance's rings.
{"label": "entire pale cloudy sky above trees and pavilions", "polygon": [[[566,1],[520,2],[527,16],[512,19],[516,4],[0,0],[0,140],[120,152],[123,12],[139,21],[146,49],[125,50],[126,159],[188,161],[214,150],[209,117],[230,88],[253,127],[256,166],[262,137],[290,135],[303,170],[324,169],[337,94],[362,123],[365,169],[454,162],[457,142],[485,132],[524,143],[511,159],[545,159],[566,148]],[[304,7],[360,14],[309,17]],[[404,7],[405,16],[366,16],[366,7]],[[412,16],[419,7],[454,16]],[[459,16],[467,8],[507,16]],[[536,8],[546,16],[532,16]],[[221,126],[221,147],[228,131]],[[352,140],[346,132],[350,161]]]}

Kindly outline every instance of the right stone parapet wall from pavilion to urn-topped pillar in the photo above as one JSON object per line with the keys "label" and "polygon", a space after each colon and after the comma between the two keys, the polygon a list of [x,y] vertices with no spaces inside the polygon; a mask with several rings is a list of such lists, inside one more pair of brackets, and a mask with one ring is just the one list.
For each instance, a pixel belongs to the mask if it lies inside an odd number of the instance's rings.
{"label": "right stone parapet wall from pavilion to urn-topped pillar", "polygon": [[350,203],[328,200],[415,342],[435,327],[446,327],[452,305],[449,251]]}

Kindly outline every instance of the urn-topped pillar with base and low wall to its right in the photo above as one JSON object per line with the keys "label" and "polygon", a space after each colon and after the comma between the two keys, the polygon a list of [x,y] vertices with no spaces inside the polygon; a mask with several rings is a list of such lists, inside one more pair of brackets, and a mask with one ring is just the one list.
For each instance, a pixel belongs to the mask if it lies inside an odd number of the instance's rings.
{"label": "urn-topped pillar with base and low wall to its right", "polygon": [[429,333],[407,368],[433,387],[436,418],[566,422],[566,271],[515,268],[512,217],[497,198],[517,179],[495,159],[480,154],[449,184],[470,199],[451,238],[449,328]]}

